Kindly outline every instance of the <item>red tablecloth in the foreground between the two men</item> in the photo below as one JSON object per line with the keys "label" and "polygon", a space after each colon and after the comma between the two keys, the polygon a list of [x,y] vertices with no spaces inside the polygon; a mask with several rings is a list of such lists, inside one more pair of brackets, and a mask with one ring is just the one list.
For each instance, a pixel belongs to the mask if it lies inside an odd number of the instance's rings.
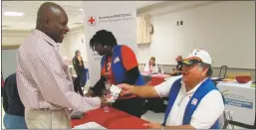
{"label": "red tablecloth in the foreground between the two men", "polygon": [[92,121],[107,129],[146,129],[142,124],[147,123],[113,107],[110,107],[110,112],[104,112],[103,108],[99,108],[85,113],[83,119],[71,120],[72,127]]}

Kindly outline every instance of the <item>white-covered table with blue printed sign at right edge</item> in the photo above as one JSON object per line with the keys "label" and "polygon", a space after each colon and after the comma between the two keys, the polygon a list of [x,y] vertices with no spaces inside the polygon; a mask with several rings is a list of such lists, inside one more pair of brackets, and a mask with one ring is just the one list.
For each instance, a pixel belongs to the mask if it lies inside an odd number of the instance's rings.
{"label": "white-covered table with blue printed sign at right edge", "polygon": [[217,87],[225,98],[225,109],[233,111],[233,120],[246,125],[255,123],[255,87],[248,83],[220,81]]}

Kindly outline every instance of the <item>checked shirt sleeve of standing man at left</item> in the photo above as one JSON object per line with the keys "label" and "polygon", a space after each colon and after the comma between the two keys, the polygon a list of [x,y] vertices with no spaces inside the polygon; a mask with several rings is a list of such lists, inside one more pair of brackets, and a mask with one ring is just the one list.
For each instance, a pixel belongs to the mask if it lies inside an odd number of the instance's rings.
{"label": "checked shirt sleeve of standing man at left", "polygon": [[64,71],[65,66],[52,53],[35,60],[32,67],[33,77],[47,102],[83,112],[101,106],[99,97],[83,97],[74,91],[73,82]]}

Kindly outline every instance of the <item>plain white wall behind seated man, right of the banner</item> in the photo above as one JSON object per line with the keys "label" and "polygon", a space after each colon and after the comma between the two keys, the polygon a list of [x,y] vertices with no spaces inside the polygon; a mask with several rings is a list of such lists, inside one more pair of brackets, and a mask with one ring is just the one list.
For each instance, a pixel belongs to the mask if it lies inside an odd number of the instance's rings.
{"label": "plain white wall behind seated man, right of the banner", "polygon": [[[175,5],[173,5],[175,6]],[[183,26],[176,26],[182,20]],[[177,55],[205,49],[213,66],[255,68],[255,2],[224,1],[151,16],[150,45],[139,45],[140,64],[150,56],[163,65],[175,65]]]}

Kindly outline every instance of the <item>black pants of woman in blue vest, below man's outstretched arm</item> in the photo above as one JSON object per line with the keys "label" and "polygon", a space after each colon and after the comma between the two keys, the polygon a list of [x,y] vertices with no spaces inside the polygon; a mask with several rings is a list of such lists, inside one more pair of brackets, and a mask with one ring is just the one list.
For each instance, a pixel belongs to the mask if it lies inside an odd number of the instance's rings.
{"label": "black pants of woman in blue vest, below man's outstretched arm", "polygon": [[139,97],[119,99],[113,104],[113,107],[140,118],[143,114],[144,101],[145,99]]}

